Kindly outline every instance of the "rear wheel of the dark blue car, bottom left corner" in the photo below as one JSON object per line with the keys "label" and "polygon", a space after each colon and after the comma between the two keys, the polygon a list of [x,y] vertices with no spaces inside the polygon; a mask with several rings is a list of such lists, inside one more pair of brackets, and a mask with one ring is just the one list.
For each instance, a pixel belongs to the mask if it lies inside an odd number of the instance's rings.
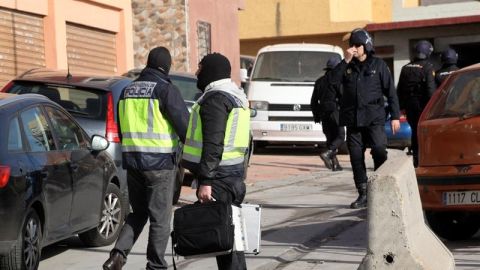
{"label": "rear wheel of the dark blue car, bottom left corner", "polygon": [[35,210],[30,209],[22,233],[10,253],[0,256],[1,269],[35,270],[41,256],[42,225]]}

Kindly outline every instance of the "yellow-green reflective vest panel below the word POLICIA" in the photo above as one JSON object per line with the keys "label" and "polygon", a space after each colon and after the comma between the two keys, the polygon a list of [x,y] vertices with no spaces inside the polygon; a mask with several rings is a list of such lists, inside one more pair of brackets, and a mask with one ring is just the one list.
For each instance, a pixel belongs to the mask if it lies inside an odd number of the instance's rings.
{"label": "yellow-green reflective vest panel below the word POLICIA", "polygon": [[123,152],[173,153],[178,137],[159,110],[159,101],[127,98],[119,102]]}

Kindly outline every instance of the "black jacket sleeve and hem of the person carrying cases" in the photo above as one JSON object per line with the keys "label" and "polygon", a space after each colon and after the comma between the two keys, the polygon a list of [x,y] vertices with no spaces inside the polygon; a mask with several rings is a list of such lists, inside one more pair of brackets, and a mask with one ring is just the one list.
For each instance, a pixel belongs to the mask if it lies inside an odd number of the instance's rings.
{"label": "black jacket sleeve and hem of the person carrying cases", "polygon": [[203,136],[202,157],[198,168],[187,168],[194,171],[201,185],[211,185],[212,180],[215,179],[243,177],[243,164],[219,166],[223,154],[223,140],[228,115],[235,107],[233,102],[232,97],[220,91],[205,94],[200,102]]}

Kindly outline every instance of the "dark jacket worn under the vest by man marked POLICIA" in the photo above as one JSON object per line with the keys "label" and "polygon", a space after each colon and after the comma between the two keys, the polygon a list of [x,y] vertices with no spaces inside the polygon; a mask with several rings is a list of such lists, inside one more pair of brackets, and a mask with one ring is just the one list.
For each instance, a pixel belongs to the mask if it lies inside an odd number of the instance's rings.
{"label": "dark jacket worn under the vest by man marked POLICIA", "polygon": [[[129,87],[136,87],[134,83],[142,81],[156,83],[156,86],[149,98],[159,100],[159,110],[162,112],[162,115],[164,115],[165,118],[169,120],[176,134],[180,138],[180,141],[185,142],[189,113],[182,98],[182,95],[180,94],[180,91],[172,84],[168,75],[165,75],[160,72],[160,70],[156,70],[153,68],[147,67],[143,69],[140,73],[140,76],[132,84],[123,89],[122,94],[120,95],[120,100],[125,99],[126,89],[128,89]],[[117,113],[117,115],[119,114]],[[119,135],[121,139],[122,131],[120,129],[120,119],[118,120]],[[174,168],[176,163],[175,159],[176,153],[122,153],[122,165],[124,169],[136,169],[143,171],[169,170]]]}

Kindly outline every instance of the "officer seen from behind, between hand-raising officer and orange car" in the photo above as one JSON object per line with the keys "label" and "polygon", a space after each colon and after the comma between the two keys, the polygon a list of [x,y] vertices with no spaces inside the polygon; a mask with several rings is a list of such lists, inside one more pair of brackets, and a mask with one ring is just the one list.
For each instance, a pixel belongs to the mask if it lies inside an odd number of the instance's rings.
{"label": "officer seen from behind, between hand-raising officer and orange car", "polygon": [[428,59],[432,51],[432,44],[426,40],[415,44],[414,60],[402,67],[397,87],[400,109],[406,111],[412,129],[411,149],[415,167],[418,166],[418,119],[436,88],[435,70]]}

